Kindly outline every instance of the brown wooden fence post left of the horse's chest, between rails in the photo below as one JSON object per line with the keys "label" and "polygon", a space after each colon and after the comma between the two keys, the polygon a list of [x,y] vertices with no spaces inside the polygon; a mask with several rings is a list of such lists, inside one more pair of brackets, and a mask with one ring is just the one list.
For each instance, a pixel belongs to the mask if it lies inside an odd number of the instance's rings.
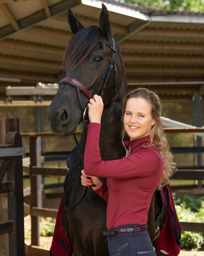
{"label": "brown wooden fence post left of the horse's chest, between rails", "polygon": [[[41,137],[30,137],[30,166],[41,166]],[[42,175],[30,175],[31,207],[42,207]],[[39,217],[31,215],[31,244],[39,246]]]}

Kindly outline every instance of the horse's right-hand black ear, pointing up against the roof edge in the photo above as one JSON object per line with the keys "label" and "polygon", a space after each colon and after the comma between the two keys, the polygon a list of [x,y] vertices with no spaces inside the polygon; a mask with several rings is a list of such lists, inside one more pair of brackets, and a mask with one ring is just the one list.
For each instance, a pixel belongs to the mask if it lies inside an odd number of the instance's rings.
{"label": "horse's right-hand black ear, pointing up against the roof edge", "polygon": [[107,11],[105,4],[102,4],[99,24],[100,24],[100,28],[102,30],[103,36],[105,36],[106,38],[109,38],[112,35],[112,33],[110,28],[109,12]]}

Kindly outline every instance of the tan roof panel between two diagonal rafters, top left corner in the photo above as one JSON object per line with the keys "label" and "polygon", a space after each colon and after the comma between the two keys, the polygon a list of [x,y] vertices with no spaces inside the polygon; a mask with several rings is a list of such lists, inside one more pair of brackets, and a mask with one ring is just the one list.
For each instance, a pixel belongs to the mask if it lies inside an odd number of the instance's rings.
{"label": "tan roof panel between two diagonal rafters, top left corner", "polygon": [[33,13],[39,12],[43,9],[43,3],[41,0],[35,1],[24,1],[18,3],[7,3],[7,7],[13,14],[15,20],[20,20],[25,17],[32,15]]}

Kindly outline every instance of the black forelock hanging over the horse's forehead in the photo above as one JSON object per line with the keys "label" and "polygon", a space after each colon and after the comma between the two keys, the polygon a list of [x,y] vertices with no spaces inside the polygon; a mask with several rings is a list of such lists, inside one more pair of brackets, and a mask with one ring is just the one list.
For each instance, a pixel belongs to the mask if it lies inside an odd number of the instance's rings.
{"label": "black forelock hanging over the horse's forehead", "polygon": [[63,57],[69,71],[78,66],[93,51],[101,37],[103,37],[102,31],[96,25],[83,28],[71,37]]}

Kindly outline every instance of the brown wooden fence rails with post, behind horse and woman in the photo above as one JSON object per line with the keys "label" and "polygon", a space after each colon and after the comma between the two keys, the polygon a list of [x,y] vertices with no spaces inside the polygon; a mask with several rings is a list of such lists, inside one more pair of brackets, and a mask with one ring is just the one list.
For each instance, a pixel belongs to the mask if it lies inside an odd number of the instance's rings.
{"label": "brown wooden fence rails with post, behind horse and woman", "polygon": [[[166,133],[204,133],[204,128],[164,128]],[[81,135],[77,131],[76,135]],[[21,133],[22,137],[30,139],[30,164],[23,165],[23,172],[30,175],[31,187],[24,189],[24,196],[31,194],[31,205],[24,203],[24,212],[31,216],[31,245],[25,243],[27,255],[49,255],[49,251],[39,247],[39,216],[56,218],[58,210],[42,208],[42,176],[65,176],[66,168],[42,167],[41,165],[41,137],[56,136],[51,132]],[[204,170],[178,170],[172,179],[203,180]],[[203,223],[180,222],[183,231],[204,232]],[[41,254],[39,254],[39,251]]]}

